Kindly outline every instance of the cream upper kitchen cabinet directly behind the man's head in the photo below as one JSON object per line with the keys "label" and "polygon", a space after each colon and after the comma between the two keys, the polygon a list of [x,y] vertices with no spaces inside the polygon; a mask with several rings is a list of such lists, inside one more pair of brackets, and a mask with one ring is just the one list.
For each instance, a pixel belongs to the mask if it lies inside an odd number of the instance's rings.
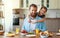
{"label": "cream upper kitchen cabinet directly behind the man's head", "polygon": [[23,8],[29,8],[29,6],[31,4],[36,4],[40,8],[41,7],[41,0],[24,0],[23,1]]}

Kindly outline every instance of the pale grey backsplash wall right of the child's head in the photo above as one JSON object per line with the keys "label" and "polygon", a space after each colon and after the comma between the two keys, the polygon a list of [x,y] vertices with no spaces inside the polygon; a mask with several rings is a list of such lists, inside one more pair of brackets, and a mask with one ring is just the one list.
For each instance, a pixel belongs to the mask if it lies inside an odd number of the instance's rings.
{"label": "pale grey backsplash wall right of the child's head", "polygon": [[48,9],[46,13],[47,18],[60,18],[60,9]]}

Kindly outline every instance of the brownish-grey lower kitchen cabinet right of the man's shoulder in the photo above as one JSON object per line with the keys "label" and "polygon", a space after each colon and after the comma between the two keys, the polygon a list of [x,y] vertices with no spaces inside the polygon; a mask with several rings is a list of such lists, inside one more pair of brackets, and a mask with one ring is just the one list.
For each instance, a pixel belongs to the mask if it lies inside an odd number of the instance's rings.
{"label": "brownish-grey lower kitchen cabinet right of the man's shoulder", "polygon": [[49,31],[58,32],[60,25],[60,18],[47,18],[46,19],[47,29]]}

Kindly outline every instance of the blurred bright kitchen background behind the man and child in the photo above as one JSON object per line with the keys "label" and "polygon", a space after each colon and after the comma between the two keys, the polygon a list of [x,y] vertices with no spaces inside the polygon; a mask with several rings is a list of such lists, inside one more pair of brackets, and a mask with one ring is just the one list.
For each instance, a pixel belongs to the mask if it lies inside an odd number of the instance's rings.
{"label": "blurred bright kitchen background behind the man and child", "polygon": [[3,26],[4,31],[21,29],[31,4],[36,4],[38,11],[41,6],[47,7],[47,28],[49,31],[58,32],[60,29],[60,0],[0,0],[0,27]]}

